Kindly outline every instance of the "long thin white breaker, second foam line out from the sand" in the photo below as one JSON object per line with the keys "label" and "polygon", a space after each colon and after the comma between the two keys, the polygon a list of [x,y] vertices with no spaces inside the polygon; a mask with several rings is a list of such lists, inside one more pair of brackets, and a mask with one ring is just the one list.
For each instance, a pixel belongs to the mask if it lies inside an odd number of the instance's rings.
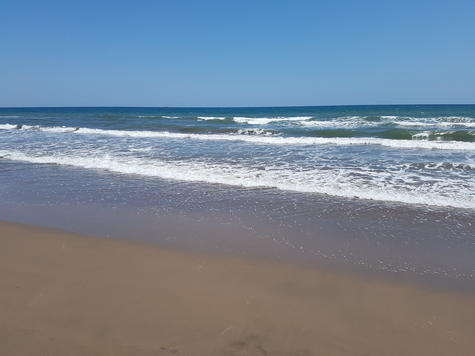
{"label": "long thin white breaker, second foam line out from the sand", "polygon": [[335,145],[380,145],[394,148],[422,148],[439,150],[475,150],[475,142],[461,141],[426,141],[426,140],[395,140],[385,138],[371,137],[283,137],[266,135],[238,135],[238,134],[197,134],[197,133],[175,133],[169,131],[125,131],[125,130],[103,130],[89,129],[81,127],[44,127],[29,125],[11,125],[20,127],[21,130],[57,132],[57,133],[81,133],[81,134],[99,134],[113,136],[129,137],[156,137],[171,139],[192,139],[206,141],[246,141],[253,143],[266,144],[335,144]]}

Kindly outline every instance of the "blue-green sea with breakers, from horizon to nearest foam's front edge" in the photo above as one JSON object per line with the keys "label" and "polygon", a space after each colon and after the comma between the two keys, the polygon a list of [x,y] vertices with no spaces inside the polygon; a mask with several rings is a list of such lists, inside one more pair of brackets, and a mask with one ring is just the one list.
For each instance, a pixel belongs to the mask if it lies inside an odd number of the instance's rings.
{"label": "blue-green sea with breakers, from horizon to nearest foam's front edge", "polygon": [[2,108],[0,156],[475,208],[475,105]]}

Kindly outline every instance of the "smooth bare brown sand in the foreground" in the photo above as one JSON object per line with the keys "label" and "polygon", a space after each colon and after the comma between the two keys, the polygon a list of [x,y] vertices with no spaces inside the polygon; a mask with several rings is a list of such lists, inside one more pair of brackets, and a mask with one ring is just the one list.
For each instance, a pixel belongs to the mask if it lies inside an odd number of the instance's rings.
{"label": "smooth bare brown sand in the foreground", "polygon": [[475,298],[0,222],[0,355],[475,355]]}

